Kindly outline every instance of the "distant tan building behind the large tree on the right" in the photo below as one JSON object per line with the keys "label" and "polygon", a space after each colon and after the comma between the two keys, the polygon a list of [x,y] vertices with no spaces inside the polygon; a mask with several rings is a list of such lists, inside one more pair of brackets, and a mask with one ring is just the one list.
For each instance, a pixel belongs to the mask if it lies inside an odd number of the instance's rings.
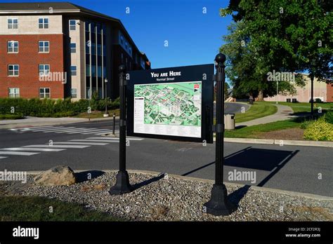
{"label": "distant tan building behind the large tree on the right", "polygon": [[[311,101],[311,79],[307,74],[303,74],[306,86],[296,88],[296,95],[280,95],[273,97],[265,97],[265,101],[276,102],[310,102]],[[273,81],[272,81],[273,82]],[[320,99],[322,102],[333,102],[333,83],[325,83],[315,79],[313,81],[313,100]]]}

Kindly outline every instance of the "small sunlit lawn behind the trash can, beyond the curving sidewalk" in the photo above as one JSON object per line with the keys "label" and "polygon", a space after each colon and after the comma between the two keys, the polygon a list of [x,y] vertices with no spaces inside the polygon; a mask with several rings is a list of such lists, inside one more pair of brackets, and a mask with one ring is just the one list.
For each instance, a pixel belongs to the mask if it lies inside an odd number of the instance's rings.
{"label": "small sunlit lawn behind the trash can, beyond the curving sidewalk", "polygon": [[256,118],[275,114],[277,111],[278,107],[268,102],[254,102],[254,104],[245,113],[235,114],[235,121],[236,123],[252,121]]}

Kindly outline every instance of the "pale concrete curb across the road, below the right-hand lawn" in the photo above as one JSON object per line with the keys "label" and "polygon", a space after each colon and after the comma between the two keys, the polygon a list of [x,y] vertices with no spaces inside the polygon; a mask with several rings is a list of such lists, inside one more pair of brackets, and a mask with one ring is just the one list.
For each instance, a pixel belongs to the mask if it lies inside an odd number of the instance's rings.
{"label": "pale concrete curb across the road, below the right-hand lawn", "polygon": [[[214,137],[214,142],[216,137]],[[304,147],[333,147],[333,142],[319,142],[319,141],[298,141],[298,140],[274,140],[274,139],[252,139],[252,138],[224,138],[224,142],[236,143],[253,143],[253,144],[275,144],[275,145],[289,145],[289,146],[304,146]]]}

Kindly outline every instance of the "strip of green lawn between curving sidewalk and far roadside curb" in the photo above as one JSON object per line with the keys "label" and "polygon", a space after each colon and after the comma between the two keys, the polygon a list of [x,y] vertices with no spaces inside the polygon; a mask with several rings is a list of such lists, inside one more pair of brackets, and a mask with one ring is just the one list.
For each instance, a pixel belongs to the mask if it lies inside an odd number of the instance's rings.
{"label": "strip of green lawn between curving sidewalk and far roadside curb", "polygon": [[276,121],[272,123],[264,123],[256,126],[247,126],[235,130],[226,130],[225,137],[238,137],[238,138],[256,138],[260,133],[266,133],[273,130],[284,130],[288,128],[299,128],[301,121],[287,120]]}

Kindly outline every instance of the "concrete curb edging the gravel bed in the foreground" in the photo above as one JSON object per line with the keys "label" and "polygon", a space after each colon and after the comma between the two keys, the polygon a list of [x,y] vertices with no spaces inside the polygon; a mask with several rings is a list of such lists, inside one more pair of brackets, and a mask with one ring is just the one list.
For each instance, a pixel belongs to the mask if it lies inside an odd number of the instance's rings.
{"label": "concrete curb edging the gravel bed in the foreground", "polygon": [[[85,172],[89,170],[74,170],[74,172]],[[103,172],[118,172],[119,170],[100,170]],[[160,175],[161,172],[156,171],[150,171],[150,170],[127,170],[130,173],[138,173],[138,174],[144,174],[144,175]],[[27,171],[27,175],[39,175],[41,172],[44,171]],[[162,172],[162,174],[166,174],[166,172]],[[195,182],[202,182],[202,183],[210,183],[214,184],[215,181],[213,179],[202,179],[202,178],[196,178],[196,177],[188,177],[188,176],[182,176],[182,175],[174,175],[174,174],[168,174],[170,177],[173,177],[175,179],[183,179],[188,181],[195,181]],[[230,182],[223,182],[227,186],[233,186],[233,187],[244,187],[244,184],[237,184],[237,183],[230,183]],[[301,192],[296,191],[286,191],[286,190],[280,190],[280,189],[270,189],[266,187],[256,187],[251,186],[250,189],[254,189],[256,191],[264,191],[264,192],[270,192],[270,193],[277,193],[277,194],[285,194],[289,196],[300,196],[304,198],[311,198],[315,200],[320,201],[333,201],[333,197],[330,196],[320,196],[315,194],[305,194]]]}

